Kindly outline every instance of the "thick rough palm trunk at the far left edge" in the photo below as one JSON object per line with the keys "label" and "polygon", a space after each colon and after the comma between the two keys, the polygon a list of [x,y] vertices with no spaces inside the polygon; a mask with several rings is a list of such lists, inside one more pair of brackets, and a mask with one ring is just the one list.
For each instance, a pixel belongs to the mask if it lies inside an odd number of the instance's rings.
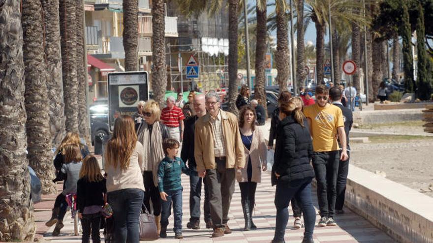
{"label": "thick rough palm trunk at the far left edge", "polygon": [[20,1],[2,1],[0,33],[0,241],[32,242]]}

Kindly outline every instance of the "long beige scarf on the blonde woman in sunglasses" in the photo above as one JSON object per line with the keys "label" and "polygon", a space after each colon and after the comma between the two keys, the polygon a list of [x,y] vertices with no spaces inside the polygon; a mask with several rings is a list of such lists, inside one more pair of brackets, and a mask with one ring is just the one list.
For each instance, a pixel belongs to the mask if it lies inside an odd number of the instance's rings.
{"label": "long beige scarf on the blonde woman in sunglasses", "polygon": [[158,166],[159,162],[164,159],[164,150],[162,149],[161,126],[156,121],[152,128],[152,140],[150,140],[149,127],[146,122],[142,122],[138,129],[138,141],[144,146],[143,167],[144,171],[152,171],[155,187],[158,186]]}

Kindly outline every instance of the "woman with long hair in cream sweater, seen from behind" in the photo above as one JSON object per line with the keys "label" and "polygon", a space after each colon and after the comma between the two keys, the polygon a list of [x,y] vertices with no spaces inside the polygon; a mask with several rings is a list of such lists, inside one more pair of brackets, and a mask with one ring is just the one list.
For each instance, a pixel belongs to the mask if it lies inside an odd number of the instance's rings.
{"label": "woman with long hair in cream sweater, seen from behind", "polygon": [[113,136],[105,145],[107,198],[113,209],[116,243],[139,242],[139,216],[144,197],[143,145],[137,140],[132,117],[114,122]]}

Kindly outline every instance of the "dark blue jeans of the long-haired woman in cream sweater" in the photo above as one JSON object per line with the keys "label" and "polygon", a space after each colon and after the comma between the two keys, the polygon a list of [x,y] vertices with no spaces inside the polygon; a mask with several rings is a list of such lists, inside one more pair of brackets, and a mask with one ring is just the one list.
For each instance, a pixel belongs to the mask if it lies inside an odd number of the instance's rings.
{"label": "dark blue jeans of the long-haired woman in cream sweater", "polygon": [[121,189],[108,192],[108,203],[113,209],[116,243],[140,241],[139,217],[144,191]]}

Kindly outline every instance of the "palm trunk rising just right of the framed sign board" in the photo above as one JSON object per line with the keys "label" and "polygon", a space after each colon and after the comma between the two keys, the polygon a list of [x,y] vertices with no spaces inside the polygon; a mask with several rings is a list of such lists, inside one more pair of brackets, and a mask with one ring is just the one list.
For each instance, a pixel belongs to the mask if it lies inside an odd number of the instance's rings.
{"label": "palm trunk rising just right of the framed sign board", "polygon": [[167,87],[167,68],[165,63],[165,9],[164,0],[154,0],[152,6],[152,89],[154,99],[161,108],[164,105]]}

